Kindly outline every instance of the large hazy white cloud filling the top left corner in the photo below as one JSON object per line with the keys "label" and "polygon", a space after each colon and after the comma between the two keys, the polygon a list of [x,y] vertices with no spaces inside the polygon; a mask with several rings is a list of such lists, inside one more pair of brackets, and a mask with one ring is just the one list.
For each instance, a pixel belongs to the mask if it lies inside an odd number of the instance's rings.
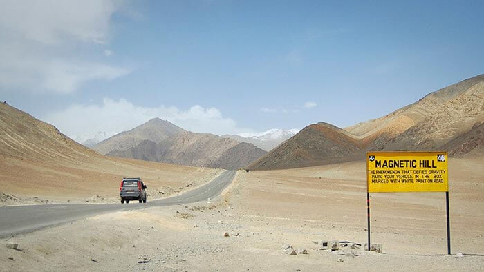
{"label": "large hazy white cloud filling the top left corner", "polygon": [[0,0],[0,91],[65,94],[86,81],[127,75],[130,69],[89,54],[109,41],[111,16],[123,3]]}

